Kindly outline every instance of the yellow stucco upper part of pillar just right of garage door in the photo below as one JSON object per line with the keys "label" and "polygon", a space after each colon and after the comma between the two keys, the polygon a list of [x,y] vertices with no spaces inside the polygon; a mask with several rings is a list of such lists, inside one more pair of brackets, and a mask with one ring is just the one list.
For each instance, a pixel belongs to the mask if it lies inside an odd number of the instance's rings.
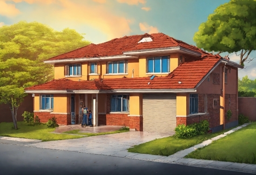
{"label": "yellow stucco upper part of pillar just right of garage door", "polygon": [[188,115],[188,94],[177,94],[176,96],[176,115]]}

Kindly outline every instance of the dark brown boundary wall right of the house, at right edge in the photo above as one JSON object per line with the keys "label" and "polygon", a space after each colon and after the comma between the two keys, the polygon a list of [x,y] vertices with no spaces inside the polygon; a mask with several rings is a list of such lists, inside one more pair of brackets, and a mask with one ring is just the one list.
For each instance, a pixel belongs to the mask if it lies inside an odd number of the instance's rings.
{"label": "dark brown boundary wall right of the house, at right edge", "polygon": [[[248,116],[250,121],[256,121],[256,97],[238,97],[239,114]],[[238,116],[238,111],[237,111]]]}

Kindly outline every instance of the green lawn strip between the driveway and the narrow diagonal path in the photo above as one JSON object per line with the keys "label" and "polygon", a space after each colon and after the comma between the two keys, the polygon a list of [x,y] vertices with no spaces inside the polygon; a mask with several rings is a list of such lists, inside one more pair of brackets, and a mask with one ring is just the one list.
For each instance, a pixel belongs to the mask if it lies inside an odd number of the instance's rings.
{"label": "green lawn strip between the driveway and the narrow diagonal path", "polygon": [[[231,128],[230,128],[231,129]],[[217,135],[221,135],[230,129],[220,131],[212,134],[205,134],[192,137],[190,139],[179,139],[174,136],[165,137],[162,139],[155,139],[154,141],[149,141],[142,143],[140,145],[135,145],[132,148],[128,148],[128,152],[149,154],[149,155],[164,155],[169,156],[174,153],[181,151],[186,148],[190,148],[196,144],[206,141]]]}

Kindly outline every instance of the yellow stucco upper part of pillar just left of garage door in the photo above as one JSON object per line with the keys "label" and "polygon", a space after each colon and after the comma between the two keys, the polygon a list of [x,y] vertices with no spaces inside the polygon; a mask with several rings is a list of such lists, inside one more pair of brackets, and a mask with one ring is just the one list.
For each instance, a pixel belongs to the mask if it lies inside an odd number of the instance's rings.
{"label": "yellow stucco upper part of pillar just left of garage door", "polygon": [[141,115],[142,108],[141,108],[141,99],[142,94],[130,94],[130,115]]}

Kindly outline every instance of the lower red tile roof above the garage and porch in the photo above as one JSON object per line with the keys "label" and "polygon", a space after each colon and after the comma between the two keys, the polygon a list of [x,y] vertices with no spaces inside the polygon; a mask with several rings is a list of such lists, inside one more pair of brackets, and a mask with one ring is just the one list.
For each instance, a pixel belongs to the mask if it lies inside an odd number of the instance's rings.
{"label": "lower red tile roof above the garage and porch", "polygon": [[[184,62],[167,76],[116,78],[94,81],[53,80],[25,90],[111,90],[111,89],[186,89],[195,88],[220,61],[219,55],[203,54],[195,61]],[[181,81],[182,83],[178,83]],[[150,82],[148,84],[148,82]]]}

